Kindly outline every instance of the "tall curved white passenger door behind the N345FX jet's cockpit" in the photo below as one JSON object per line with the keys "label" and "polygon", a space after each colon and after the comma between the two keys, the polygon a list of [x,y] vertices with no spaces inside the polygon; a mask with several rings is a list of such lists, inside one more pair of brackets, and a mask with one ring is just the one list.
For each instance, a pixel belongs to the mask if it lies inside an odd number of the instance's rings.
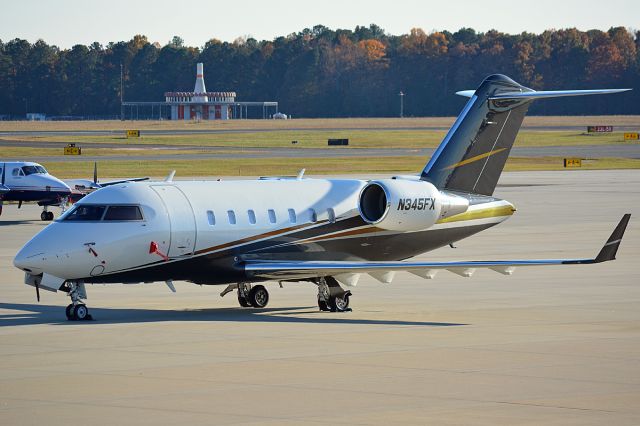
{"label": "tall curved white passenger door behind the N345FX jet's cockpit", "polygon": [[169,257],[189,256],[196,246],[196,220],[187,197],[175,186],[153,185],[169,215],[171,241]]}

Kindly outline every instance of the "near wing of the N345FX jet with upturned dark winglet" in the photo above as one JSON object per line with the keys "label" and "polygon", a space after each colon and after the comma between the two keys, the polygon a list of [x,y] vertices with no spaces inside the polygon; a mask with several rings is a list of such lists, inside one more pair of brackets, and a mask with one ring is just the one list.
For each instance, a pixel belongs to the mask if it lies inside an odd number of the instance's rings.
{"label": "near wing of the N345FX jet with upturned dark winglet", "polygon": [[478,268],[488,268],[511,275],[516,267],[545,265],[580,265],[615,260],[631,214],[625,214],[598,255],[587,259],[479,260],[454,262],[369,262],[369,261],[246,261],[244,270],[250,277],[288,280],[334,276],[347,285],[355,285],[358,274],[370,274],[389,283],[396,271],[407,271],[422,278],[433,278],[440,269],[470,277]]}

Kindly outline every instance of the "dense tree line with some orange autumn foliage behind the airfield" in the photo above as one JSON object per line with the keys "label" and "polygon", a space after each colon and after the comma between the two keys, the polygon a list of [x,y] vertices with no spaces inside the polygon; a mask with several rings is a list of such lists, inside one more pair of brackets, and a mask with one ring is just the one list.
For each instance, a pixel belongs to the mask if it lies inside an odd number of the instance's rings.
{"label": "dense tree line with some orange autumn foliage behind the airfield", "polygon": [[575,28],[541,34],[495,30],[390,35],[376,25],[322,25],[272,41],[211,39],[202,47],[174,37],[164,46],[143,35],[106,46],[60,49],[43,40],[0,40],[0,115],[117,116],[121,66],[126,101],[163,101],[192,91],[203,62],[209,91],[237,100],[278,101],[294,117],[456,115],[484,77],[502,73],[533,89],[631,87],[617,96],[549,100],[534,114],[640,114],[640,31]]}

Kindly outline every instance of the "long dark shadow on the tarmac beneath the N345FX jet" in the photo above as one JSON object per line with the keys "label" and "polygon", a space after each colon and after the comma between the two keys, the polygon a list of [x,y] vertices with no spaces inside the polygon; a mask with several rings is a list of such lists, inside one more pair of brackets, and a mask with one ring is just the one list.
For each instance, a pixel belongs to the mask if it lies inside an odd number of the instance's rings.
{"label": "long dark shadow on the tarmac beneath the N345FX jet", "polygon": [[[67,321],[64,307],[42,304],[0,303],[0,309],[20,312],[0,314],[0,327],[34,324],[127,324],[169,321],[256,322],[292,324],[363,324],[404,325],[424,327],[451,327],[467,324],[427,321],[376,320],[349,318],[350,313],[319,312],[315,307],[289,308],[211,308],[187,310],[93,308],[89,312],[94,321]],[[302,310],[302,311],[301,311]],[[312,314],[313,317],[308,315]]]}

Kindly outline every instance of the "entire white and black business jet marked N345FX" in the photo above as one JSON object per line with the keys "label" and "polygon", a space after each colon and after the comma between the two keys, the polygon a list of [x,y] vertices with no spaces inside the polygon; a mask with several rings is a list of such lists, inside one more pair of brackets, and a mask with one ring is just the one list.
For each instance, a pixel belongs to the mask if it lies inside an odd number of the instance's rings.
{"label": "entire white and black business jet marked N345FX", "polygon": [[40,231],[14,265],[25,283],[71,297],[69,320],[91,318],[86,284],[166,282],[226,285],[243,307],[265,307],[265,281],[318,286],[320,310],[349,309],[361,274],[390,283],[397,271],[469,277],[478,268],[614,260],[629,214],[588,259],[412,262],[515,212],[493,197],[534,99],[625,89],[536,92],[503,75],[486,78],[419,176],[391,179],[271,178],[123,183],[96,191]]}

